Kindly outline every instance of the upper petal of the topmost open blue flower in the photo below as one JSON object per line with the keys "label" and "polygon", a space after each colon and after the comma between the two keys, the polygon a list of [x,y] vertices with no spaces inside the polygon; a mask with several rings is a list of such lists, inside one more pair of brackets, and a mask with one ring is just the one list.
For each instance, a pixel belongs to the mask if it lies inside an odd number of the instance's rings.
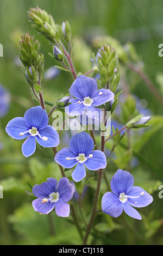
{"label": "upper petal of the topmost open blue flower", "polygon": [[84,97],[92,97],[97,90],[97,83],[94,79],[80,75],[71,86],[71,93],[79,100],[84,100]]}

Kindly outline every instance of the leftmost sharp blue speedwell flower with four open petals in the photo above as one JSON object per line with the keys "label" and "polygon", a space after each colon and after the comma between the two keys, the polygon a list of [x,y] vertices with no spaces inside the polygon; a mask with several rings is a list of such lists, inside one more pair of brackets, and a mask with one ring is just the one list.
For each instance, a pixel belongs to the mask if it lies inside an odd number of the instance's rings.
{"label": "leftmost sharp blue speedwell flower with four open petals", "polygon": [[48,115],[40,107],[32,107],[26,111],[24,117],[16,117],[9,121],[5,131],[14,139],[26,139],[22,144],[22,153],[28,157],[36,150],[36,141],[42,147],[57,147],[59,144],[58,132],[48,125]]}

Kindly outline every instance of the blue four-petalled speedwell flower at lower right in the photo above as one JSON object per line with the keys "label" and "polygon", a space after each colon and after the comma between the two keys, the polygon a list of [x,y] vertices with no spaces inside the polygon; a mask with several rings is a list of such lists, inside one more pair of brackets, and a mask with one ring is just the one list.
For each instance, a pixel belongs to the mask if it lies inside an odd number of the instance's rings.
{"label": "blue four-petalled speedwell flower at lower right", "polygon": [[152,203],[153,197],[143,188],[133,185],[133,175],[118,169],[110,182],[112,192],[106,192],[102,198],[102,211],[116,218],[124,210],[130,217],[141,220],[141,215],[132,206],[145,207]]}

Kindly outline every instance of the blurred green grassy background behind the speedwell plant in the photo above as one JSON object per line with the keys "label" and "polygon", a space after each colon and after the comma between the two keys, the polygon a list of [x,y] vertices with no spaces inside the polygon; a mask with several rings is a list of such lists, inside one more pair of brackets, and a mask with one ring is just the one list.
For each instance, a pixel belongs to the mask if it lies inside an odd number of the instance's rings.
{"label": "blurred green grassy background behind the speedwell plant", "polygon": [[[36,5],[51,14],[56,23],[61,25],[66,20],[70,23],[74,39],[73,60],[78,72],[82,71],[84,74],[92,68],[92,52],[97,52],[92,38],[110,35],[120,41],[122,46],[127,42],[134,45],[144,65],[144,71],[163,95],[163,57],[158,56],[158,46],[163,43],[163,3],[161,0],[0,0],[0,43],[3,45],[0,83],[11,94],[9,112],[0,119],[0,141],[3,143],[3,149],[0,150],[0,185],[4,188],[4,198],[0,199],[0,243],[80,244],[80,237],[76,228],[71,225],[71,219],[67,222],[53,214],[49,215],[50,217],[37,215],[31,205],[34,197],[29,182],[33,186],[51,175],[60,178],[51,149],[44,152],[37,149],[34,157],[25,159],[21,153],[22,142],[15,142],[5,133],[9,120],[17,116],[23,117],[29,107],[36,105],[36,102],[30,99],[29,88],[17,59],[21,35],[29,32],[40,41],[40,52],[45,55],[45,71],[52,65],[58,65],[48,55],[48,52],[52,53],[52,46],[43,36],[37,34],[28,22],[27,10]],[[96,238],[94,242],[102,245],[162,245],[163,199],[158,197],[158,187],[163,185],[163,108],[141,78],[123,65],[120,67],[120,73],[121,71],[129,92],[145,100],[146,107],[152,112],[152,127],[138,140],[140,147],[135,146],[137,153],[146,161],[140,161],[133,175],[135,174],[137,185],[144,185],[143,188],[152,193],[154,202],[147,209],[140,211],[144,216],[141,222],[124,215],[116,221],[99,215],[99,220],[104,218],[102,224],[98,224],[98,218],[96,220],[102,238]],[[64,71],[61,71],[55,80],[43,81],[45,100],[55,102],[63,92],[68,93],[72,82],[71,75]],[[50,111],[50,108],[47,108]],[[139,137],[135,138],[137,139]],[[117,150],[118,153],[121,154],[121,151]],[[126,163],[123,164],[125,167]],[[117,167],[121,168],[117,162],[112,162],[110,166],[111,174],[116,172]],[[90,202],[91,196],[92,191]],[[90,209],[91,205],[88,205],[87,212]],[[52,226],[49,223],[53,222],[56,223],[55,237],[49,228]],[[108,223],[107,228],[104,227],[105,222]]]}

